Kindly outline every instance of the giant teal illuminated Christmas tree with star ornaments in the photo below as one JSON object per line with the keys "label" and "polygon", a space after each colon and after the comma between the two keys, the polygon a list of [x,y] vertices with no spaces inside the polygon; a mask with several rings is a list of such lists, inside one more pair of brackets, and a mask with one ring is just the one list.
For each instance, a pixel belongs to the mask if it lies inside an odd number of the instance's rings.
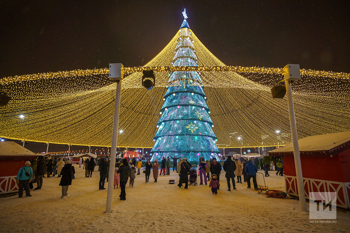
{"label": "giant teal illuminated Christmas tree with star ornaments", "polygon": [[[197,56],[193,45],[190,27],[185,20],[180,27],[173,66],[197,66]],[[158,121],[155,144],[151,150],[154,159],[164,156],[187,158],[189,161],[218,158],[219,150],[202,89],[200,72],[176,71],[169,74],[168,89],[162,115]]]}

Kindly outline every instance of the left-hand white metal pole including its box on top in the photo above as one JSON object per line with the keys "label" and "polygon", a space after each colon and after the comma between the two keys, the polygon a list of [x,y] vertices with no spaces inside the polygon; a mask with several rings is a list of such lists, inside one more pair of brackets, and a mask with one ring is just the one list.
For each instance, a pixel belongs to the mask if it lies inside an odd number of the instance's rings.
{"label": "left-hand white metal pole including its box on top", "polygon": [[[121,81],[123,80],[124,67],[121,63],[110,64],[109,66],[109,77],[117,82],[116,91],[116,104],[114,106],[114,119],[113,119],[113,133],[112,133],[112,147],[111,147],[111,158],[110,158],[110,169],[109,177],[114,177],[114,167],[116,164],[117,154],[117,139],[118,139],[118,121],[119,121],[119,109],[120,109],[120,94],[121,94]],[[113,195],[113,182],[108,182],[107,189],[107,203],[106,212],[112,212],[112,195]]]}

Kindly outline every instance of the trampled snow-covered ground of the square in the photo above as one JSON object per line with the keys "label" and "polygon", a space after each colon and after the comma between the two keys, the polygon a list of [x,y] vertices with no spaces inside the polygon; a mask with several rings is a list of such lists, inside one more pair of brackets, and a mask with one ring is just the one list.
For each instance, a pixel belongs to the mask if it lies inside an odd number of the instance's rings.
{"label": "trampled snow-covered ground of the square", "polygon": [[[299,210],[293,199],[266,198],[247,189],[246,183],[227,191],[224,173],[221,189],[213,195],[208,185],[188,190],[168,184],[176,179],[159,176],[158,183],[145,183],[137,175],[134,187],[126,188],[126,201],[119,200],[120,188],[113,190],[113,212],[104,213],[107,190],[98,190],[99,172],[91,178],[76,168],[76,179],[68,196],[60,199],[60,178],[44,178],[41,190],[32,197],[0,198],[1,232],[349,232],[350,213],[337,212],[337,223],[309,223],[308,212]],[[273,172],[266,177],[270,189],[285,190],[283,177]],[[242,177],[243,178],[243,177]],[[178,178],[177,178],[178,180]],[[176,180],[176,181],[177,181]],[[199,183],[199,177],[198,177]],[[258,184],[262,184],[258,174]],[[34,185],[36,187],[36,185]],[[105,184],[107,187],[107,183]],[[253,184],[252,184],[253,187]]]}

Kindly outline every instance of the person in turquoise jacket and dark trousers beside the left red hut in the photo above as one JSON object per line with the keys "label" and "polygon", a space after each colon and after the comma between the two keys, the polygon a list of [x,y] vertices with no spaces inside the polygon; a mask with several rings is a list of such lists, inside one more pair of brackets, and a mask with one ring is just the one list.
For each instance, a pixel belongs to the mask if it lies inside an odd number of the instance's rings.
{"label": "person in turquoise jacket and dark trousers beside the left red hut", "polygon": [[33,169],[30,167],[30,161],[26,161],[24,166],[18,171],[16,183],[18,184],[18,197],[23,196],[23,188],[26,190],[26,196],[31,197],[29,183],[33,178]]}

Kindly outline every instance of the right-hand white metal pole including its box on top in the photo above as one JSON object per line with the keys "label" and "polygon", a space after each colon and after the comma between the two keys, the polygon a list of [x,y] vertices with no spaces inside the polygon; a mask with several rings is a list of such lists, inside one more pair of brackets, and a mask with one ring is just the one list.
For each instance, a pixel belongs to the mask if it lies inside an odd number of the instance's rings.
{"label": "right-hand white metal pole including its box on top", "polygon": [[290,85],[290,81],[300,79],[300,67],[299,67],[299,65],[295,65],[295,64],[286,65],[284,67],[284,75],[285,75],[286,94],[287,94],[287,102],[288,102],[290,132],[292,133],[294,162],[295,162],[295,171],[296,171],[296,183],[298,186],[298,194],[299,194],[299,204],[300,204],[300,209],[302,211],[307,211],[306,200],[305,200],[305,191],[304,191],[304,182],[303,182],[303,174],[301,171],[299,143],[298,143],[298,136],[296,133],[296,123],[295,123],[295,114],[294,114],[293,97],[292,97],[292,86]]}

